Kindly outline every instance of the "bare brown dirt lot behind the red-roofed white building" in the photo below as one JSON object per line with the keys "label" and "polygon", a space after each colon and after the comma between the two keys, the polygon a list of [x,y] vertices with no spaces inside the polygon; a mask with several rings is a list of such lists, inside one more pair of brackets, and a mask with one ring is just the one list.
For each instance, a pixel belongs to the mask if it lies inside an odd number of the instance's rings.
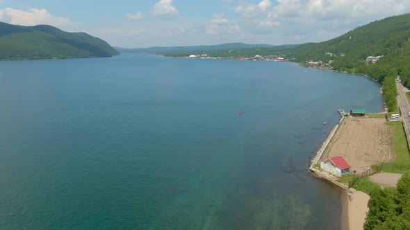
{"label": "bare brown dirt lot behind the red-roofed white building", "polygon": [[345,158],[350,172],[361,173],[370,166],[394,158],[393,127],[384,118],[345,118],[323,157]]}

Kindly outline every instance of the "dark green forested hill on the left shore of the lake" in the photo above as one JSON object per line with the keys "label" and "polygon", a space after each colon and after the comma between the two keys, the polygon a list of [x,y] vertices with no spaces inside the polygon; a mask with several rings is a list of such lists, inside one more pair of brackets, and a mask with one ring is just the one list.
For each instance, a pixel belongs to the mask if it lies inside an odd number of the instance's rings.
{"label": "dark green forested hill on the left shore of the lake", "polygon": [[119,55],[104,40],[67,33],[53,26],[15,26],[0,22],[0,60],[33,60]]}

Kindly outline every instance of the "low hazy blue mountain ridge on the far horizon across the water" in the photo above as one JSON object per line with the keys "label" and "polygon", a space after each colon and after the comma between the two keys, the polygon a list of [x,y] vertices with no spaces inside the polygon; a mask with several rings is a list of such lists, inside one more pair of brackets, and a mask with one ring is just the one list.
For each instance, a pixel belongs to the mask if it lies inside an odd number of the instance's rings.
{"label": "low hazy blue mountain ridge on the far horizon across the water", "polygon": [[154,46],[148,48],[120,48],[115,47],[120,53],[147,53],[157,55],[167,55],[170,53],[206,53],[209,51],[240,49],[240,48],[267,48],[273,47],[269,44],[245,44],[245,43],[225,43],[209,46]]}

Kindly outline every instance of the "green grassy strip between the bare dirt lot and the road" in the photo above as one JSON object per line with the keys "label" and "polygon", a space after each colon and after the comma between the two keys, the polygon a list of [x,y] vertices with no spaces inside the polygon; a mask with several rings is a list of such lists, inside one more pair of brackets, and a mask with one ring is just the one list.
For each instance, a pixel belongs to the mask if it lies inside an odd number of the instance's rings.
{"label": "green grassy strip between the bare dirt lot and the road", "polygon": [[407,147],[403,125],[401,122],[388,122],[387,124],[393,126],[394,129],[393,148],[395,150],[395,159],[384,163],[383,172],[410,172],[409,148]]}

